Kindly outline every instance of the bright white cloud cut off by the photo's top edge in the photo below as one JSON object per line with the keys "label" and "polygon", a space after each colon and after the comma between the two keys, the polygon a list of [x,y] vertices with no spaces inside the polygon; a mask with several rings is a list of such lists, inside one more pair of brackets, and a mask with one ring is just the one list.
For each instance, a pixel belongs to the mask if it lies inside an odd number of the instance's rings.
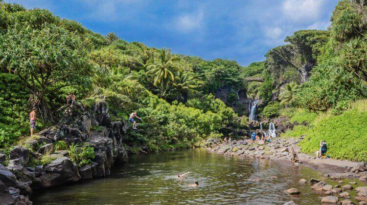
{"label": "bright white cloud cut off by the photo's top edge", "polygon": [[325,0],[285,0],[283,12],[293,21],[315,20],[320,17]]}

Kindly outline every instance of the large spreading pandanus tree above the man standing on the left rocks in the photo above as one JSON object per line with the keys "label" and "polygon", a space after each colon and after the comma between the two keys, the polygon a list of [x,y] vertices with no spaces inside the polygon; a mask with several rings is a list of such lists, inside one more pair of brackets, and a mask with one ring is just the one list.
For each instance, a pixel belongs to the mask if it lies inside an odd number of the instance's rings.
{"label": "large spreading pandanus tree above the man standing on the left rocks", "polygon": [[0,35],[0,69],[17,75],[35,97],[44,120],[53,121],[47,95],[68,85],[90,85],[91,66],[82,41],[55,25],[12,26]]}

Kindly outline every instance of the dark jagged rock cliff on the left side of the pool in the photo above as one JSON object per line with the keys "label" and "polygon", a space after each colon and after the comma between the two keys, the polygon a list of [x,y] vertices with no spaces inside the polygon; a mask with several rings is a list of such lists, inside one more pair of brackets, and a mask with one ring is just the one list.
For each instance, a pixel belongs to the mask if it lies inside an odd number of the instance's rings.
{"label": "dark jagged rock cliff on the left side of the pool", "polygon": [[[111,122],[103,97],[92,108],[86,109],[76,103],[74,107],[62,108],[60,113],[58,125],[39,132],[38,138],[25,142],[26,146],[14,147],[7,167],[0,164],[1,203],[32,204],[28,195],[33,190],[103,177],[110,174],[114,163],[126,162],[124,139],[127,123]],[[94,130],[95,127],[98,129]],[[70,160],[68,151],[59,150],[50,154],[53,159],[50,163],[30,165],[31,158],[42,156],[57,141],[92,146],[95,152],[92,164],[79,167]],[[37,148],[38,144],[44,145]]]}

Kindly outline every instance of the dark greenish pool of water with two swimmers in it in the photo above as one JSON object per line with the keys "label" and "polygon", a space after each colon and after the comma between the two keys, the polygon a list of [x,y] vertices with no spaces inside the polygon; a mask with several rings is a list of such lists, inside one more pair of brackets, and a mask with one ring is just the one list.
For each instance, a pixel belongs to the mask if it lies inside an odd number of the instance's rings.
{"label": "dark greenish pool of water with two swimmers in it", "polygon": [[[183,181],[179,173],[192,172]],[[277,176],[274,179],[273,176]],[[321,173],[290,163],[223,156],[206,149],[189,149],[130,156],[111,175],[42,190],[34,204],[320,204],[320,195],[301,178]],[[190,184],[197,180],[199,186]],[[284,193],[298,188],[301,194]]]}

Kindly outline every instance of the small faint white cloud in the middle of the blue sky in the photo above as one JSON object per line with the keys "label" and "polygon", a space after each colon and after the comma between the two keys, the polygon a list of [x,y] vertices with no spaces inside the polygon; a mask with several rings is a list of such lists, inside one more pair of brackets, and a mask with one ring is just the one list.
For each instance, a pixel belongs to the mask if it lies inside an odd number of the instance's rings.
{"label": "small faint white cloud in the middle of the blue sky", "polygon": [[203,26],[204,12],[199,10],[196,13],[186,13],[176,19],[176,28],[181,32],[191,32],[200,30]]}

